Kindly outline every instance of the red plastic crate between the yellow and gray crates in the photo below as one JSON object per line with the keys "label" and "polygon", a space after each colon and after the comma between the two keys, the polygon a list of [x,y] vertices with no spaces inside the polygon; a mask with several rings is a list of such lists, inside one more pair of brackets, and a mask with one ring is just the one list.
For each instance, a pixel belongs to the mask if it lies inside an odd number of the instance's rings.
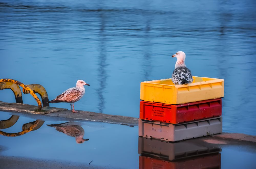
{"label": "red plastic crate between the yellow and gray crates", "polygon": [[221,116],[221,98],[172,105],[140,102],[140,119],[172,124]]}

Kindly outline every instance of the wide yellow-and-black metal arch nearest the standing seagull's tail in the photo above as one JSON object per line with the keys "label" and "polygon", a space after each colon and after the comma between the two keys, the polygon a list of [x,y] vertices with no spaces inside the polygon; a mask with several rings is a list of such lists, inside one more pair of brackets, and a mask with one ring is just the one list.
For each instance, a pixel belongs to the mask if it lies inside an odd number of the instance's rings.
{"label": "wide yellow-and-black metal arch nearest the standing seagull's tail", "polygon": [[[49,101],[48,94],[47,94],[45,88],[42,85],[31,84],[31,85],[27,85],[27,87],[29,87],[31,90],[33,90],[35,93],[38,93],[41,96],[44,107],[45,106],[50,106],[49,103],[47,103]],[[29,93],[29,91],[25,90],[24,88],[23,88],[22,91],[23,91],[24,94]]]}

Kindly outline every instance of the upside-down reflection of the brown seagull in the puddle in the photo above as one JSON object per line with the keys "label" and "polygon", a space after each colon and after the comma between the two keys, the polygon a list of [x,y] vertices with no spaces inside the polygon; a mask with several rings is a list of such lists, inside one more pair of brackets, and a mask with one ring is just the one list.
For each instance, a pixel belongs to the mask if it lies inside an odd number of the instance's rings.
{"label": "upside-down reflection of the brown seagull in the puddle", "polygon": [[47,126],[54,127],[57,131],[62,132],[68,136],[75,137],[76,142],[78,144],[83,143],[85,141],[88,141],[89,139],[84,139],[84,130],[79,125],[71,125],[66,123],[60,123],[60,124],[47,124]]}

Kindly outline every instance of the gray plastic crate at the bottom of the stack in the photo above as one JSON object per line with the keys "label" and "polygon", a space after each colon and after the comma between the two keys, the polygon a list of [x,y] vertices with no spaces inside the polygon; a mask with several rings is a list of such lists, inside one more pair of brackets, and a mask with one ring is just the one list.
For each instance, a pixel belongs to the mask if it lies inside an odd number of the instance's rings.
{"label": "gray plastic crate at the bottom of the stack", "polygon": [[139,136],[176,142],[222,132],[222,117],[170,124],[139,119]]}

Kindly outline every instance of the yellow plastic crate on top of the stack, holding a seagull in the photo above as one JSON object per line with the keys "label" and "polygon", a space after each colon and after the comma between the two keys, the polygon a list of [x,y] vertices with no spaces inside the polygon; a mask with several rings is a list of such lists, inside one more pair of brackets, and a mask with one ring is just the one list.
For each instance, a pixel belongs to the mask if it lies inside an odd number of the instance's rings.
{"label": "yellow plastic crate on top of the stack, holding a seagull", "polygon": [[224,97],[224,80],[193,76],[193,83],[174,85],[172,79],[141,82],[141,100],[183,104]]}

